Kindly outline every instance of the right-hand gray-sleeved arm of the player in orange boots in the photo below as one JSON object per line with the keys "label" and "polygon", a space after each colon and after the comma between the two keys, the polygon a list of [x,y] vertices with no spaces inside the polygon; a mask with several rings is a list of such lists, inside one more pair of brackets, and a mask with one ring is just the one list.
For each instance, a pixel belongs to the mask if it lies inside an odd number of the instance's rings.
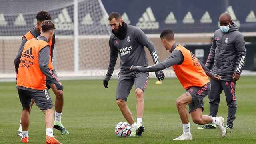
{"label": "right-hand gray-sleeved arm of the player in orange boots", "polygon": [[42,48],[39,52],[39,56],[38,56],[39,68],[42,71],[42,73],[47,77],[47,79],[56,85],[58,90],[63,90],[62,84],[58,81],[56,76],[54,76],[54,74],[48,67],[49,58],[50,58],[50,46],[46,46],[45,48]]}

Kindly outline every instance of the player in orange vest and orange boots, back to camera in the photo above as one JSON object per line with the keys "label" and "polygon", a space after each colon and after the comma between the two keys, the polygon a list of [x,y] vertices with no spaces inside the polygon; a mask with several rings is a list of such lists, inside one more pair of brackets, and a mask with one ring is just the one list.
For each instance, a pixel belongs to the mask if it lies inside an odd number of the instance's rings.
{"label": "player in orange vest and orange boots, back to camera", "polygon": [[[42,23],[40,36],[28,40],[22,52],[18,53],[20,58],[19,66],[16,67],[17,89],[22,104],[21,142],[28,143],[28,126],[30,123],[30,103],[34,99],[36,105],[45,114],[46,144],[61,144],[53,136],[53,104],[48,89],[46,87],[46,77],[48,80],[56,81],[54,85],[59,90],[63,89],[62,84],[52,74],[48,64],[50,60],[50,46],[48,42],[52,39],[55,26],[50,20]],[[17,64],[17,63],[15,63]]]}

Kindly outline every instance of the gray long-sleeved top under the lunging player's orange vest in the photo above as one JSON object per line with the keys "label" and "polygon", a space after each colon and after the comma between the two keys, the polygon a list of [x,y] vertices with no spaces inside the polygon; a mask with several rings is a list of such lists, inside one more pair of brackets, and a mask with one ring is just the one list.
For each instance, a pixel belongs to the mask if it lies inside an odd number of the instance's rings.
{"label": "gray long-sleeved top under the lunging player's orange vest", "polygon": [[[138,72],[154,72],[154,71],[159,71],[159,70],[169,68],[174,64],[182,64],[182,62],[184,61],[184,56],[182,52],[180,52],[180,50],[174,50],[176,46],[178,46],[178,43],[174,43],[172,45],[172,48],[170,50],[171,52],[170,56],[166,58],[163,62],[160,62],[159,64],[154,64],[148,67],[135,66],[133,67],[134,68],[133,70]],[[208,76],[210,77],[217,76],[216,74],[213,74],[211,70],[206,68],[206,66],[204,66],[204,64],[200,60],[198,61],[200,62],[200,64],[202,65],[202,68],[204,69],[205,73]]]}

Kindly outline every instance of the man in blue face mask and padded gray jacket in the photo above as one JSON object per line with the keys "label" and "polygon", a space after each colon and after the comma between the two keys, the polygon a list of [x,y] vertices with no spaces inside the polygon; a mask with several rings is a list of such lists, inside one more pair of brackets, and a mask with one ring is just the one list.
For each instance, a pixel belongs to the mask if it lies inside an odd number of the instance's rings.
{"label": "man in blue face mask and padded gray jacket", "polygon": [[[219,18],[220,29],[216,30],[212,40],[212,48],[205,66],[214,74],[221,76],[221,80],[211,79],[212,90],[208,95],[210,100],[210,116],[216,117],[220,94],[224,90],[228,105],[228,117],[225,128],[233,128],[236,118],[235,86],[245,64],[246,48],[244,36],[238,31],[238,26],[231,20],[228,13],[222,13]],[[198,129],[216,128],[214,124],[207,124]]]}

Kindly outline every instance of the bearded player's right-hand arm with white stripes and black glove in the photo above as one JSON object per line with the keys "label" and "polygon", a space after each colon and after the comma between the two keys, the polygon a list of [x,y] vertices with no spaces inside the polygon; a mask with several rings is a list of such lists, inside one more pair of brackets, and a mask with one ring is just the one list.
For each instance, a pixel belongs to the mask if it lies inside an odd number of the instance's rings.
{"label": "bearded player's right-hand arm with white stripes and black glove", "polygon": [[[135,38],[138,42],[140,42],[140,44],[142,44],[143,46],[146,46],[148,48],[148,50],[150,51],[151,57],[153,59],[154,64],[158,64],[159,63],[159,59],[158,59],[158,53],[156,50],[156,46],[153,44],[153,42],[146,36],[146,34],[141,30],[141,29],[137,29],[135,32]],[[164,73],[162,70],[156,71],[156,77],[158,78],[158,80],[164,80]]]}

